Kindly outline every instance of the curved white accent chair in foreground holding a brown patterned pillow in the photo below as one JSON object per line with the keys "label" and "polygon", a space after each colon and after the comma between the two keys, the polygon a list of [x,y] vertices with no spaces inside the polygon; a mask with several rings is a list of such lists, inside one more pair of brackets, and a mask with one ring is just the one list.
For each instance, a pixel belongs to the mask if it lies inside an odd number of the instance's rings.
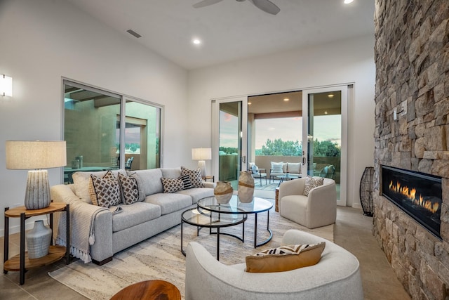
{"label": "curved white accent chair in foreground holding a brown patterned pillow", "polygon": [[326,242],[319,263],[276,273],[248,273],[244,271],[246,263],[227,266],[198,242],[190,242],[185,261],[185,299],[363,299],[359,263],[353,254],[300,230],[287,230],[282,240],[286,245],[319,242]]}

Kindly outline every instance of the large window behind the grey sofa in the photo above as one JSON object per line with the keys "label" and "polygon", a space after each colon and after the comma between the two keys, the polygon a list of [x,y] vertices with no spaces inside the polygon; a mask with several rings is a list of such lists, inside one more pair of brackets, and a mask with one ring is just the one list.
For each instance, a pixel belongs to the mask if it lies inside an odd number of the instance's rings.
{"label": "large window behind the grey sofa", "polygon": [[160,167],[161,107],[67,80],[64,107],[65,182],[74,171]]}

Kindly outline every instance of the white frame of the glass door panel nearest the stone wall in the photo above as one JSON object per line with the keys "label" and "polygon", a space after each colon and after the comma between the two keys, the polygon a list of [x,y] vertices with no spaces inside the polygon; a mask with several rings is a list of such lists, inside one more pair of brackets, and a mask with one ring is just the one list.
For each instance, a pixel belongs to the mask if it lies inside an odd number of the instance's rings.
{"label": "white frame of the glass door panel nearest the stone wall", "polygon": [[[308,141],[309,141],[309,95],[340,91],[342,95],[342,145],[340,161],[340,199],[337,205],[346,206],[347,202],[347,152],[348,152],[348,85],[326,86],[316,89],[302,89],[302,176],[307,176],[308,167]],[[305,113],[304,113],[305,112]]]}

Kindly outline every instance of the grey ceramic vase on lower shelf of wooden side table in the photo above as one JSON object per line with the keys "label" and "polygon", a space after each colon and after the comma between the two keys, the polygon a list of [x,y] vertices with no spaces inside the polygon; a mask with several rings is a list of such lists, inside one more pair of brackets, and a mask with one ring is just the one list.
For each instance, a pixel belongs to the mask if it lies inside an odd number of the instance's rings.
{"label": "grey ceramic vase on lower shelf of wooden side table", "polygon": [[43,221],[34,222],[34,227],[27,233],[29,259],[39,259],[48,254],[51,241],[51,229],[43,225]]}

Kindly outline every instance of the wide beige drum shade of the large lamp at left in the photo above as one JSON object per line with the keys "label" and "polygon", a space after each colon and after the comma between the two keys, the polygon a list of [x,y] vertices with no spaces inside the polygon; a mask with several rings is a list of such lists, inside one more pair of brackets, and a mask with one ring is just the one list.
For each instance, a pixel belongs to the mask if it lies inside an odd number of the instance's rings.
{"label": "wide beige drum shade of the large lamp at left", "polygon": [[66,164],[65,141],[6,141],[6,169],[48,169]]}

